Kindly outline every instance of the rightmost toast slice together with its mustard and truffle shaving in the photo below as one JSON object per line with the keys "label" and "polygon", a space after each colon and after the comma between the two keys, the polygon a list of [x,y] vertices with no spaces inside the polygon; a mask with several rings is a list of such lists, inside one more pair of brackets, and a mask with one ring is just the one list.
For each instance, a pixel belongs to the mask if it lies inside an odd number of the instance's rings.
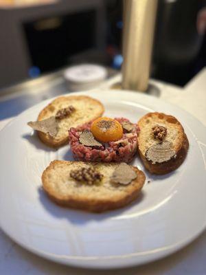
{"label": "rightmost toast slice together with its mustard and truffle shaving", "polygon": [[148,113],[138,125],[138,151],[150,173],[166,174],[181,166],[189,142],[183,126],[174,116]]}

